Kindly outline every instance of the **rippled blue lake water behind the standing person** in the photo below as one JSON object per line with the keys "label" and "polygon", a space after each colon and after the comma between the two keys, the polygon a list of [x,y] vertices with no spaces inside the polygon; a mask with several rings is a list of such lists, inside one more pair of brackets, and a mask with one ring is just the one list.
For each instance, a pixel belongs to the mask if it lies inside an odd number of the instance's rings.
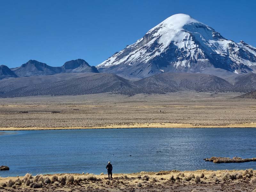
{"label": "rippled blue lake water behind the standing person", "polygon": [[[256,162],[213,164],[211,156],[256,157],[256,129],[87,129],[0,132],[1,177],[37,173],[256,169]],[[158,152],[157,152],[158,151]]]}

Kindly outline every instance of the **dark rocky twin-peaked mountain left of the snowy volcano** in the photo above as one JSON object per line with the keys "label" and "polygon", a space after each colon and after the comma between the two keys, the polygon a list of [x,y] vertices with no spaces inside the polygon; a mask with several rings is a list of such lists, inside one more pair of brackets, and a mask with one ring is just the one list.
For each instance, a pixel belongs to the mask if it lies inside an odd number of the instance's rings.
{"label": "dark rocky twin-peaked mountain left of the snowy volcano", "polygon": [[61,67],[51,67],[36,60],[29,60],[20,67],[12,68],[11,70],[19,77],[45,76],[59,73],[98,73],[97,68],[90,66],[82,59],[68,61]]}

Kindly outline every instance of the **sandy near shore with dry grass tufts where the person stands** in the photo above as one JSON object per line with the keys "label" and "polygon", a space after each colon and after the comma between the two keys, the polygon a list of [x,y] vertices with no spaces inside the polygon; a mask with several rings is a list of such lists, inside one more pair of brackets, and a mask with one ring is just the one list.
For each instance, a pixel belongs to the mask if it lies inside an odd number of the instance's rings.
{"label": "sandy near shore with dry grass tufts where the person stands", "polygon": [[[197,170],[197,171],[160,171],[160,172],[139,172],[130,174],[113,174],[113,180],[108,181],[107,174],[92,175],[86,174],[55,174],[44,175],[42,178],[48,177],[51,180],[49,184],[42,184],[41,188],[31,188],[24,182],[16,185],[15,189],[11,187],[1,187],[0,191],[253,191],[256,188],[256,171],[245,170]],[[55,184],[53,178],[55,176]],[[56,181],[57,176],[57,181]],[[74,181],[61,183],[63,177],[73,176]],[[173,176],[173,177],[172,177]],[[33,176],[35,178],[35,176]],[[89,179],[88,179],[89,178]],[[97,180],[90,180],[94,178]],[[199,178],[199,179],[198,179]],[[255,178],[255,179],[254,179]],[[8,177],[1,178],[0,183],[9,180],[23,180],[24,177]],[[31,178],[31,181],[33,178]],[[34,181],[35,182],[35,181]]]}

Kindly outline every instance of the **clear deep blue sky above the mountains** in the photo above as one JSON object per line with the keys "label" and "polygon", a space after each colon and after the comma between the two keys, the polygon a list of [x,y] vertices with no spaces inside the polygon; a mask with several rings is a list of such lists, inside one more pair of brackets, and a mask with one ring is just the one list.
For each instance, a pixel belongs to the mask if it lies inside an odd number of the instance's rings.
{"label": "clear deep blue sky above the mountains", "polygon": [[177,13],[256,46],[255,7],[255,0],[1,0],[0,65],[78,58],[97,65]]}

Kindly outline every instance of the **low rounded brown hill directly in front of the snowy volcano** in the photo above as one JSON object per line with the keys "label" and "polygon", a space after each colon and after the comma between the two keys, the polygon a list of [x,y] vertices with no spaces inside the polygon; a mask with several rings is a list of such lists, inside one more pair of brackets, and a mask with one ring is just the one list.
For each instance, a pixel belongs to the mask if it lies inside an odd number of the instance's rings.
{"label": "low rounded brown hill directly in front of the snowy volcano", "polygon": [[202,73],[162,73],[134,82],[144,92],[166,93],[179,90],[228,92],[233,86],[226,80]]}

